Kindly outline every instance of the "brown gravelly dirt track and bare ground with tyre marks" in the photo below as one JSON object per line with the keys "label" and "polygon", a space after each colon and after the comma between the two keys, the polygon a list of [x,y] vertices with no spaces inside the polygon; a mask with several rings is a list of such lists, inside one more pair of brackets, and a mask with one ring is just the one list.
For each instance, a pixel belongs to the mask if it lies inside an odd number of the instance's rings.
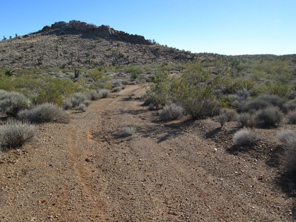
{"label": "brown gravelly dirt track and bare ground with tyre marks", "polygon": [[[273,131],[250,151],[235,150],[236,123],[160,121],[142,106],[145,90],[127,86],[3,152],[0,221],[295,219]],[[124,136],[125,127],[136,132]]]}

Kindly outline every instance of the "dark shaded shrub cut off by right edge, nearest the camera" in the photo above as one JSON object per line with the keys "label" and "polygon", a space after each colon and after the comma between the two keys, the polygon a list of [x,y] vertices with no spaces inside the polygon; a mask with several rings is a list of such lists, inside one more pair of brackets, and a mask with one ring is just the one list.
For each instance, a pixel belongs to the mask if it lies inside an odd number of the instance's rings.
{"label": "dark shaded shrub cut off by right edge, nearest the camera", "polygon": [[284,154],[282,155],[282,164],[289,175],[296,173],[296,136],[289,137],[284,142]]}

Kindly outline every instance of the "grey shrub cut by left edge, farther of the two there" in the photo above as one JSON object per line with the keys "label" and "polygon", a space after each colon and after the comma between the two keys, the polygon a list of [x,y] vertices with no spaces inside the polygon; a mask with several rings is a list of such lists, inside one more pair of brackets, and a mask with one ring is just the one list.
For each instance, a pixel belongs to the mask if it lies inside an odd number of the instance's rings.
{"label": "grey shrub cut by left edge, farther of the two there", "polygon": [[1,90],[0,112],[3,112],[9,116],[16,116],[20,110],[29,108],[29,106],[31,106],[31,102],[21,93]]}

